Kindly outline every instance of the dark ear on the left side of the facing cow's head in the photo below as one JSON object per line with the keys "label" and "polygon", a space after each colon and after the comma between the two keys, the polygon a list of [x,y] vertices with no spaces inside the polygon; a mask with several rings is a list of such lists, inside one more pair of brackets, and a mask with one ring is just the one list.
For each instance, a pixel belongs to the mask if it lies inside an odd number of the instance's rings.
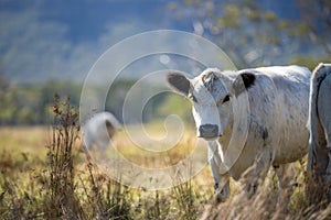
{"label": "dark ear on the left side of the facing cow's head", "polygon": [[184,96],[189,95],[189,91],[191,88],[191,82],[185,76],[178,74],[178,73],[169,73],[167,75],[167,81],[178,92],[180,92]]}

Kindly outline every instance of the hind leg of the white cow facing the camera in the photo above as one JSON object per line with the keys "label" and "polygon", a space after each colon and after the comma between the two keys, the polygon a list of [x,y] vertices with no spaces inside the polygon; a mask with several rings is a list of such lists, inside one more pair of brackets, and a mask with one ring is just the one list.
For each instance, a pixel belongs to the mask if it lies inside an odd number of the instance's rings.
{"label": "hind leg of the white cow facing the camera", "polygon": [[278,178],[278,200],[277,207],[287,209],[290,196],[293,193],[293,176],[295,170],[291,164],[282,164],[275,167],[275,172]]}

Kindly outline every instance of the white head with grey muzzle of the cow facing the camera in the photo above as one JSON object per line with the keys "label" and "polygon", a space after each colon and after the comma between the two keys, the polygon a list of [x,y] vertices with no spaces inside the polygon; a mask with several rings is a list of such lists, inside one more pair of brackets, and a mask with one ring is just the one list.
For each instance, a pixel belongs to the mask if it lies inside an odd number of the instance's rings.
{"label": "white head with grey muzzle of the cow facing the camera", "polygon": [[233,98],[245,90],[246,79],[254,82],[250,76],[242,75],[237,80],[234,73],[217,68],[207,68],[193,79],[178,73],[168,74],[167,79],[174,90],[192,100],[196,135],[209,141],[223,135],[232,117]]}

